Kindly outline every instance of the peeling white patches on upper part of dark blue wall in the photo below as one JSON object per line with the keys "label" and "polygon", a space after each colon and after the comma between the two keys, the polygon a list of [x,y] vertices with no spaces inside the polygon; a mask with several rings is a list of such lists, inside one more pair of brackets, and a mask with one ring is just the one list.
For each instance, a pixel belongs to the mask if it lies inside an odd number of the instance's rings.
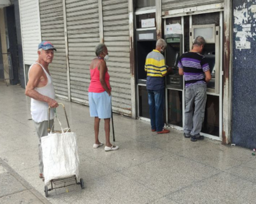
{"label": "peeling white patches on upper part of dark blue wall", "polygon": [[[249,2],[249,0],[248,0]],[[256,36],[256,5],[249,8],[244,3],[234,10],[234,37],[236,49],[251,49]]]}

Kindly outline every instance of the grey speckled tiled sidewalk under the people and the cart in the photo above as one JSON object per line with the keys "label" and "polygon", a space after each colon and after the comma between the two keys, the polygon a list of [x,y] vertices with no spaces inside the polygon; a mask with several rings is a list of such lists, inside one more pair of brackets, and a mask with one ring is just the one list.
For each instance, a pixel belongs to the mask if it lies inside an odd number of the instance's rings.
{"label": "grey speckled tiled sidewalk under the people and the cart", "polygon": [[[0,83],[0,158],[44,196],[30,99],[24,91]],[[158,135],[148,122],[116,114],[115,144],[120,149],[93,149],[89,108],[59,101],[77,134],[85,189],[49,192],[51,203],[255,203],[256,156],[251,150],[210,139],[191,142],[174,129]],[[61,110],[57,113],[65,120]],[[99,138],[105,142],[103,121]]]}

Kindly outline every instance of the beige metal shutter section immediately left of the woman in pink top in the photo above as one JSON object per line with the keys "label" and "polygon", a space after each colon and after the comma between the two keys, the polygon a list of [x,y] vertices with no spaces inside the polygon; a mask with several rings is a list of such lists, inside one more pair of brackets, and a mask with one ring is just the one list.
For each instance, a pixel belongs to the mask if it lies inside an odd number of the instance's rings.
{"label": "beige metal shutter section immediately left of the woman in pink top", "polygon": [[100,42],[98,0],[66,0],[71,100],[88,104],[90,63]]}

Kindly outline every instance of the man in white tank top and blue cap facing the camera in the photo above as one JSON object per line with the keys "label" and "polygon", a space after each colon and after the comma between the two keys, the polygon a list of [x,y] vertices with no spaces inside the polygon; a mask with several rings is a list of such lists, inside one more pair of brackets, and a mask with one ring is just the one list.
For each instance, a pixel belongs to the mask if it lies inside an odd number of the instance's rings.
{"label": "man in white tank top and blue cap facing the camera", "polygon": [[[29,80],[25,91],[25,94],[31,98],[30,111],[39,138],[39,177],[41,179],[43,179],[41,137],[48,134],[48,107],[58,107],[57,101],[54,100],[55,92],[48,69],[49,64],[53,60],[53,50],[56,49],[49,41],[43,41],[38,45],[38,60],[29,68]],[[53,116],[53,109],[51,109],[50,126],[53,125]]]}

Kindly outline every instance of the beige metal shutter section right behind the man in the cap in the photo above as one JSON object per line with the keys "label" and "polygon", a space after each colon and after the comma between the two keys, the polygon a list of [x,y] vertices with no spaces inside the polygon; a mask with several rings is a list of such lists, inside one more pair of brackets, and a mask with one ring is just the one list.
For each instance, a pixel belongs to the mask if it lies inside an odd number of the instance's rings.
{"label": "beige metal shutter section right behind the man in the cap", "polygon": [[50,41],[57,52],[49,65],[58,98],[68,99],[67,60],[62,0],[39,0],[42,40]]}

